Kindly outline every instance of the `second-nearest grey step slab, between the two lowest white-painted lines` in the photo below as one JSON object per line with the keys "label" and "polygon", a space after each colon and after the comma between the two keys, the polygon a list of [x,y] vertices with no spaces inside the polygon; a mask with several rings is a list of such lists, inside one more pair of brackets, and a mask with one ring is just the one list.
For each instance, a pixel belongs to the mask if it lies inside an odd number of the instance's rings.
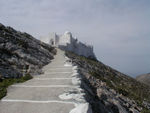
{"label": "second-nearest grey step slab, between the two lowest white-painted lines", "polygon": [[[21,87],[22,86],[22,87]],[[8,89],[8,94],[3,99],[15,99],[15,100],[37,100],[37,101],[47,101],[47,100],[59,100],[62,101],[59,98],[59,95],[68,92],[69,90],[74,89],[70,86],[50,86],[48,85],[42,86],[23,86],[23,85],[17,85],[11,86]]]}

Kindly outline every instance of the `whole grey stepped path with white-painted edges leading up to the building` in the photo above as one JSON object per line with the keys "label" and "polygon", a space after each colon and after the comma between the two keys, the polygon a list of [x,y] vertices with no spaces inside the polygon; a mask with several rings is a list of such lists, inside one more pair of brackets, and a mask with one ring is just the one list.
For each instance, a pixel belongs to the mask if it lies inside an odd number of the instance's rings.
{"label": "whole grey stepped path with white-painted edges leading up to the building", "polygon": [[[65,61],[64,52],[58,50],[54,60],[43,68],[44,74],[10,86],[0,101],[0,113],[69,113],[75,103],[84,103],[84,93],[75,85],[80,83],[79,78],[75,77],[77,82],[73,84],[73,67],[64,66]],[[76,92],[74,98],[68,92]]]}

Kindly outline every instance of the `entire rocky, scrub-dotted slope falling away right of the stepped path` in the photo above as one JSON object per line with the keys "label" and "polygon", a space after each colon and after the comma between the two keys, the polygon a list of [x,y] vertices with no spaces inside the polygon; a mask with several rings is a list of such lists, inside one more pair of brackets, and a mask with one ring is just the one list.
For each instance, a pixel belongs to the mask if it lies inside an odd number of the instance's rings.
{"label": "entire rocky, scrub-dotted slope falling away right of the stepped path", "polygon": [[66,52],[79,66],[93,113],[150,113],[150,87],[103,63]]}

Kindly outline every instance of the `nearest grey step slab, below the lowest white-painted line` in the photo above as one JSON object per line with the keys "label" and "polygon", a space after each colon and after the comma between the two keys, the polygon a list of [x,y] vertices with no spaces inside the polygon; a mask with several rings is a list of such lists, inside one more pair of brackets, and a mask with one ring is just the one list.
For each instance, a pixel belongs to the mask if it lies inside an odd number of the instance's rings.
{"label": "nearest grey step slab, below the lowest white-painted line", "polygon": [[73,104],[58,102],[0,102],[0,113],[69,113],[73,108]]}

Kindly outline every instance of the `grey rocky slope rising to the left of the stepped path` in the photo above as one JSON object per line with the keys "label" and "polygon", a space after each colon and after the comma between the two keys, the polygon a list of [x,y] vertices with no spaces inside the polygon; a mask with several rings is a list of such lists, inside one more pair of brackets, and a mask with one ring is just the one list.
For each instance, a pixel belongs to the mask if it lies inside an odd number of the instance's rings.
{"label": "grey rocky slope rising to the left of the stepped path", "polygon": [[27,33],[0,24],[0,77],[38,73],[56,50]]}

